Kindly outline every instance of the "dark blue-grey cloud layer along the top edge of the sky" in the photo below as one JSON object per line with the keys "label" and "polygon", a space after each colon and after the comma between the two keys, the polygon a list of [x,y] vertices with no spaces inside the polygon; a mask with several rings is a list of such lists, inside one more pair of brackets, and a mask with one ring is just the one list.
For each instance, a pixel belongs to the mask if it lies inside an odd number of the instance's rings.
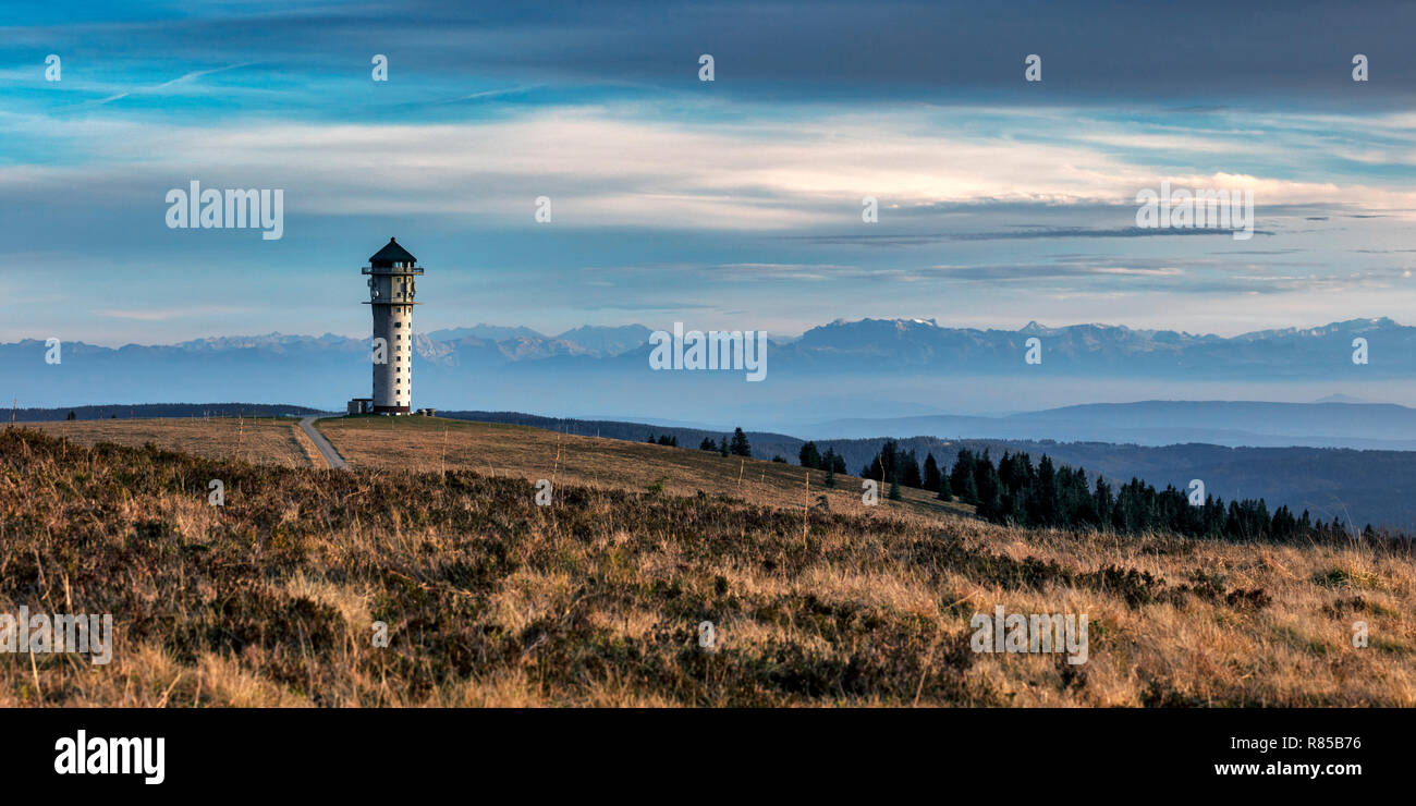
{"label": "dark blue-grey cloud layer along the top edge of the sky", "polygon": [[[95,18],[99,17],[101,18]],[[994,93],[1017,106],[1065,95],[1080,105],[1138,99],[1204,115],[1274,96],[1330,108],[1402,108],[1416,72],[1408,33],[1416,11],[1399,0],[1342,8],[1320,3],[1235,14],[1231,4],[1117,6],[1103,0],[987,4],[782,0],[654,3],[573,0],[527,4],[187,4],[95,13],[17,11],[4,28],[17,47],[71,41],[169,59],[270,58],[330,65],[396,41],[404,75],[518,74],[565,86],[599,84],[681,89],[697,55],[718,59],[714,92],[735,99],[939,102]],[[58,42],[58,44],[55,44]],[[1167,58],[1155,58],[1164,45]],[[1348,59],[1372,58],[1372,81],[1354,88]],[[1044,58],[1041,85],[1025,85],[1024,54]]]}

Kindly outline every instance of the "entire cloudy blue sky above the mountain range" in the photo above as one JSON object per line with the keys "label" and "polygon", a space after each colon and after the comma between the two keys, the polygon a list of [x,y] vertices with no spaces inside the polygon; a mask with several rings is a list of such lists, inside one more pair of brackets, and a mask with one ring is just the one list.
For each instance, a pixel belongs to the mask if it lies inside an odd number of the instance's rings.
{"label": "entire cloudy blue sky above the mountain range", "polygon": [[[0,341],[364,336],[389,237],[422,331],[1416,324],[1416,7],[1243,8],[6,3]],[[193,180],[283,237],[169,228]],[[1253,238],[1137,229],[1163,181]]]}

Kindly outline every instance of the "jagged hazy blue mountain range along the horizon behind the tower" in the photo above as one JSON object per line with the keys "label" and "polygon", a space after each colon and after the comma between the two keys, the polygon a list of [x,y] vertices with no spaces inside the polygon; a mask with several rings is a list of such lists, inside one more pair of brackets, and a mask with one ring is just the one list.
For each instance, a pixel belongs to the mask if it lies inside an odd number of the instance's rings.
{"label": "jagged hazy blue mountain range along the horizon behind the tower", "polygon": [[[643,324],[585,326],[549,337],[528,327],[479,324],[415,334],[415,401],[443,409],[616,412],[809,433],[809,424],[841,418],[1017,412],[1049,401],[1233,399],[1240,394],[1313,399],[1338,390],[1376,390],[1369,394],[1385,398],[1416,394],[1416,327],[1391,319],[1229,339],[1110,324],[978,330],[942,327],[930,319],[835,320],[794,340],[773,339],[763,382],[746,382],[742,371],[654,373],[647,361],[649,333]],[[1031,339],[1039,340],[1041,364],[1025,361]],[[1368,364],[1352,363],[1357,339],[1366,341]],[[348,398],[368,394],[368,339],[334,334],[268,333],[116,348],[74,341],[62,344],[61,363],[48,364],[45,343],[24,340],[0,344],[0,399],[20,398],[31,407],[251,399],[341,409]],[[1301,429],[1286,431],[1270,428],[1266,414],[1225,419],[1231,414],[1242,412],[1191,421],[1167,414],[1137,424],[1069,414],[1063,424],[1007,424],[1017,426],[1008,432],[995,431],[995,418],[913,428],[919,428],[915,433],[1144,443],[1270,445],[1301,436],[1315,438],[1298,442],[1304,445],[1392,446],[1392,441],[1410,439],[1405,431],[1382,432],[1375,425],[1362,431],[1321,419],[1352,412],[1324,412]],[[1073,422],[1079,416],[1082,422]],[[833,433],[884,433],[875,424],[865,431],[831,425]]]}

